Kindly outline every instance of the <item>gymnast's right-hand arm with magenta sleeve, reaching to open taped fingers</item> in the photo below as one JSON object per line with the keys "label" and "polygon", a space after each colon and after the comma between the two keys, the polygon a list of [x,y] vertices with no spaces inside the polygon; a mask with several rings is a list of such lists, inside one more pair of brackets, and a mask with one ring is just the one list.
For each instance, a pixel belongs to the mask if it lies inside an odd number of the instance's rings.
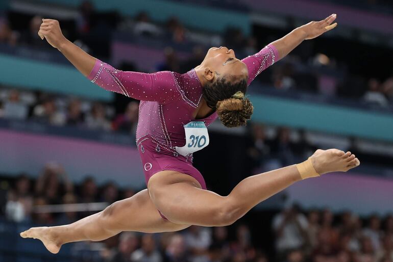
{"label": "gymnast's right-hand arm with magenta sleeve, reaching to open taped fingers", "polygon": [[263,70],[288,55],[294,48],[307,39],[313,39],[336,27],[336,14],[332,14],[321,21],[311,21],[294,29],[286,36],[268,44],[257,54],[241,60],[247,65],[249,71],[248,84]]}

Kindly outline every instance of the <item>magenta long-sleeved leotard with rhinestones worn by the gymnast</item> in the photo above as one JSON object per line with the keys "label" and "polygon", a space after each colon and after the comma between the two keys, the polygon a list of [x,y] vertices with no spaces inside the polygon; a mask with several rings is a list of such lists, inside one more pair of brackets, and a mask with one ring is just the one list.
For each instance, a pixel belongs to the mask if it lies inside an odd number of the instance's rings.
{"label": "magenta long-sleeved leotard with rhinestones worn by the gymnast", "polygon": [[[249,71],[248,84],[278,59],[273,45],[243,59]],[[204,119],[192,117],[203,88],[194,69],[185,74],[126,72],[97,60],[88,78],[108,91],[140,100],[136,144],[146,184],[155,173],[173,170],[194,177],[206,189],[203,176],[192,166],[192,154],[183,156],[175,150],[185,145],[184,124],[204,121],[208,126],[217,118],[216,113]]]}

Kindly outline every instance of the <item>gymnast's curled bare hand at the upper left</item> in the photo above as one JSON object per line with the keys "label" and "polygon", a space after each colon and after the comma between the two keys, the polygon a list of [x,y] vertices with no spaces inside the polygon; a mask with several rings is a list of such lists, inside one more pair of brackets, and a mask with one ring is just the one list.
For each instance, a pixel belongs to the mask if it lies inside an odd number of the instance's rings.
{"label": "gymnast's curled bare hand at the upper left", "polygon": [[54,19],[42,19],[38,35],[42,40],[45,38],[48,43],[57,49],[60,48],[62,43],[67,41],[63,33],[61,33],[59,21]]}

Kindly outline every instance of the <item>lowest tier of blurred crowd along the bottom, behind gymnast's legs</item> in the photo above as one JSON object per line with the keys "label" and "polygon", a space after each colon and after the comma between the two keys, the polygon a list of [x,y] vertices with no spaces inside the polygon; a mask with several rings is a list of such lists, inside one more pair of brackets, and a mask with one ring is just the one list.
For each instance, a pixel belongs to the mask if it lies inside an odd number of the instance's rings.
{"label": "lowest tier of blurred crowd along the bottom, behind gymnast's legs", "polygon": [[[95,212],[48,213],[49,204],[113,203],[131,197],[134,189],[114,182],[99,186],[92,177],[74,185],[64,168],[48,163],[36,180],[19,175],[2,180],[3,219],[22,224],[62,225]],[[4,192],[5,191],[5,192]],[[329,208],[302,210],[298,204],[280,212],[250,215],[228,227],[191,226],[180,232],[144,234],[122,232],[100,243],[64,246],[76,261],[232,261],[232,262],[389,262],[393,260],[393,216],[359,217]],[[4,234],[3,237],[6,237]],[[15,238],[16,236],[10,236]],[[265,238],[265,239],[264,239]],[[271,241],[272,240],[272,241]],[[80,259],[80,260],[79,260]],[[5,260],[6,261],[6,260]],[[11,260],[9,260],[11,261]]]}

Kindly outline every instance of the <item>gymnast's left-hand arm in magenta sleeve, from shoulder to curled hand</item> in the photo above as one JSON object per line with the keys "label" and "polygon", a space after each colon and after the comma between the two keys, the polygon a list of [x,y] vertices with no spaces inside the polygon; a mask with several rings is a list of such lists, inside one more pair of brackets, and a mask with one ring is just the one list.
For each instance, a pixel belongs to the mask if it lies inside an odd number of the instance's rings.
{"label": "gymnast's left-hand arm in magenta sleeve, from shoulder to curled hand", "polygon": [[179,96],[171,72],[140,73],[115,69],[68,41],[57,20],[42,19],[38,35],[57,48],[91,82],[105,90],[161,103],[170,102]]}

